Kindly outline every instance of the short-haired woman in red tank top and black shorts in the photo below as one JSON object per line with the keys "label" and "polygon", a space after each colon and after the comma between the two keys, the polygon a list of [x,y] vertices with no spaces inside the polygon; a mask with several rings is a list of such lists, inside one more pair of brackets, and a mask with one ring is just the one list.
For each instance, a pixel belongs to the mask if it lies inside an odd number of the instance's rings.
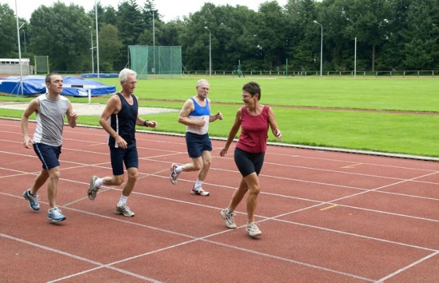
{"label": "short-haired woman in red tank top and black shorts", "polygon": [[259,84],[249,82],[243,86],[242,101],[244,101],[244,107],[238,109],[226,145],[219,152],[219,156],[226,155],[230,143],[232,143],[239,128],[241,128],[241,134],[235,147],[235,163],[239,172],[241,172],[242,178],[237,190],[232,195],[228,208],[221,211],[221,216],[226,221],[228,228],[235,229],[237,226],[234,210],[248,191],[246,232],[252,237],[262,234],[254,221],[254,211],[256,210],[257,196],[261,190],[258,175],[261,172],[265,149],[267,148],[268,127],[271,128],[272,133],[279,141],[282,138],[273,109],[270,106],[260,104],[260,99],[261,87]]}

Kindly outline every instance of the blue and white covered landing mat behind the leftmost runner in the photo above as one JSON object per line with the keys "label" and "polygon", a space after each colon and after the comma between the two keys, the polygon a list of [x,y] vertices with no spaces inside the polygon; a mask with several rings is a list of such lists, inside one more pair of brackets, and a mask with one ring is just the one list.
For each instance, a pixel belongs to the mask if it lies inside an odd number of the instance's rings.
{"label": "blue and white covered landing mat behind the leftmost runner", "polygon": [[[80,77],[62,77],[64,86],[62,95],[71,95],[74,97],[88,97],[88,90],[91,90],[91,96],[108,95],[116,92],[115,86],[107,86],[100,82]],[[12,95],[21,95],[20,77],[1,77],[0,93],[10,93]],[[38,95],[46,93],[46,84],[44,75],[27,75],[23,77],[23,95]]]}

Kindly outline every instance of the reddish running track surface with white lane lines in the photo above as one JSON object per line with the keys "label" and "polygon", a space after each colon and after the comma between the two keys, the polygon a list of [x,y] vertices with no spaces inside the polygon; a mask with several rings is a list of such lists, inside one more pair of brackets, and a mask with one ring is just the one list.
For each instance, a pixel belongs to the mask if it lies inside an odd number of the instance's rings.
{"label": "reddish running track surface with white lane lines", "polygon": [[[213,164],[209,197],[190,194],[196,173],[169,182],[172,162],[189,162],[179,136],[137,134],[139,180],[114,213],[121,187],[86,197],[91,175],[110,175],[102,129],[64,127],[57,203],[46,220],[23,190],[40,161],[24,149],[20,123],[0,120],[0,282],[439,282],[438,162],[268,147],[257,220],[246,235],[219,216],[239,182],[233,150]],[[34,123],[29,125],[33,132]]]}

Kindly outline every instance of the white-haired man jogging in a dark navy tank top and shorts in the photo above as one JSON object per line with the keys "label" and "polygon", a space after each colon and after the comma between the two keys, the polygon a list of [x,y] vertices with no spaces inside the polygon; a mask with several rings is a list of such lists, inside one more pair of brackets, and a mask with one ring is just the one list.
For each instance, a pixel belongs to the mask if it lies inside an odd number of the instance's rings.
{"label": "white-haired man jogging in a dark navy tank top and shorts", "polygon": [[122,90],[108,99],[106,107],[99,118],[99,124],[108,133],[108,146],[112,176],[99,178],[92,176],[87,195],[92,201],[97,190],[104,186],[120,186],[123,183],[123,164],[128,173],[128,182],[122,190],[119,203],[116,205],[116,214],[133,217],[134,212],[128,208],[126,202],[134,189],[139,174],[139,155],[136,146],[136,125],[156,128],[155,121],[147,121],[139,117],[139,106],[134,89],[137,84],[137,73],[130,69],[123,69],[119,73],[119,82]]}

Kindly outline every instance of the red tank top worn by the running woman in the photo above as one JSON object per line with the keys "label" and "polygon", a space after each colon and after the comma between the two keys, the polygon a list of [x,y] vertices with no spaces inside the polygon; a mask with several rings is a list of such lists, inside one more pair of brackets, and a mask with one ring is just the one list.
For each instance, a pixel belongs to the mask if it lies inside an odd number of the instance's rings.
{"label": "red tank top worn by the running woman", "polygon": [[261,114],[252,116],[247,108],[241,108],[241,135],[236,147],[247,152],[261,153],[267,149],[268,138],[268,110],[263,106]]}

